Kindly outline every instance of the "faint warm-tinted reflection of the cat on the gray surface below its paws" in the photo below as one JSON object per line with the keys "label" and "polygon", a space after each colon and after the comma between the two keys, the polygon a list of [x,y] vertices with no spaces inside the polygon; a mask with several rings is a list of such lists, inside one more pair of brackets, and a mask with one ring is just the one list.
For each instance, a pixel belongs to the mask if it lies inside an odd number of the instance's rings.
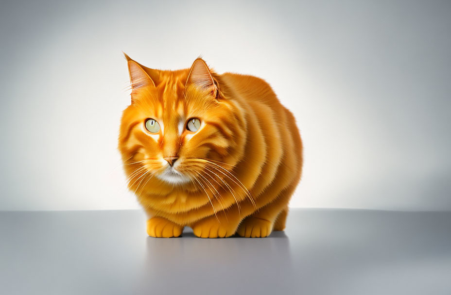
{"label": "faint warm-tinted reflection of the cat on the gray surface below its paws", "polygon": [[[193,288],[188,293],[218,288],[221,294],[252,294],[260,288],[276,292],[278,284],[293,274],[291,261],[284,232],[262,239],[201,239],[185,228],[181,238],[146,239],[141,287],[168,294],[188,286]],[[170,285],[167,278],[171,278]],[[278,284],[271,278],[278,278]]]}

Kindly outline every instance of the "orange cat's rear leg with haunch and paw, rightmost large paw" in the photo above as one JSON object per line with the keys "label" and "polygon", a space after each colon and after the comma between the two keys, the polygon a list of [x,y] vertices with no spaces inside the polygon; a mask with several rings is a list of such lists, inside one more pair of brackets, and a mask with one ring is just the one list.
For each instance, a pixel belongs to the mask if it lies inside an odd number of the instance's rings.
{"label": "orange cat's rear leg with haunch and paw, rightmost large paw", "polygon": [[[244,218],[237,233],[246,238],[264,238],[271,234],[276,225],[277,230],[281,230],[279,225],[280,223],[285,225],[285,220],[282,222],[282,217],[285,216],[286,218],[288,202],[295,191],[296,185],[297,183],[292,183],[288,188],[280,192],[275,200]],[[281,216],[282,219],[278,220],[278,216]]]}

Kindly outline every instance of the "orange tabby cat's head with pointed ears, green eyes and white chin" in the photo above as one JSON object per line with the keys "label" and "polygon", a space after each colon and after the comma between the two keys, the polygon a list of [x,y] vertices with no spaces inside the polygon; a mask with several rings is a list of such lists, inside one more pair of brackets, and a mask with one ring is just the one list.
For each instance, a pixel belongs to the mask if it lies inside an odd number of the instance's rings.
{"label": "orange tabby cat's head with pointed ears, green eyes and white chin", "polygon": [[243,113],[219,75],[200,58],[176,71],[126,58],[132,93],[119,149],[131,180],[202,184],[237,163],[245,140]]}

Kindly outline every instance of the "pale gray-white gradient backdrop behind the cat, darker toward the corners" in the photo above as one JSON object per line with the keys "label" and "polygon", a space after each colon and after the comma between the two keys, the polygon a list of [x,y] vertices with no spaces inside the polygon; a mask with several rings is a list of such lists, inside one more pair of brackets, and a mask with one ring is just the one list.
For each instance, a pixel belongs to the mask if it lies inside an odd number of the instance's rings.
{"label": "pale gray-white gradient backdrop behind the cat, darker toward the corners", "polygon": [[0,5],[0,210],[139,208],[122,50],[269,82],[305,144],[292,207],[451,210],[449,1]]}

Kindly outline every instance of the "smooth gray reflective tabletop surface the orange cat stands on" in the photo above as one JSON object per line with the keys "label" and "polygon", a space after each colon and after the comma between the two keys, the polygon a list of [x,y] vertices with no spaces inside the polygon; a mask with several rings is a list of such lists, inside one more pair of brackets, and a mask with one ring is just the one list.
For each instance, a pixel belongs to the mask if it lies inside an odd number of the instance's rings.
{"label": "smooth gray reflective tabletop surface the orange cat stands on", "polygon": [[144,226],[139,211],[0,212],[0,293],[451,293],[451,213],[292,210],[265,239]]}

